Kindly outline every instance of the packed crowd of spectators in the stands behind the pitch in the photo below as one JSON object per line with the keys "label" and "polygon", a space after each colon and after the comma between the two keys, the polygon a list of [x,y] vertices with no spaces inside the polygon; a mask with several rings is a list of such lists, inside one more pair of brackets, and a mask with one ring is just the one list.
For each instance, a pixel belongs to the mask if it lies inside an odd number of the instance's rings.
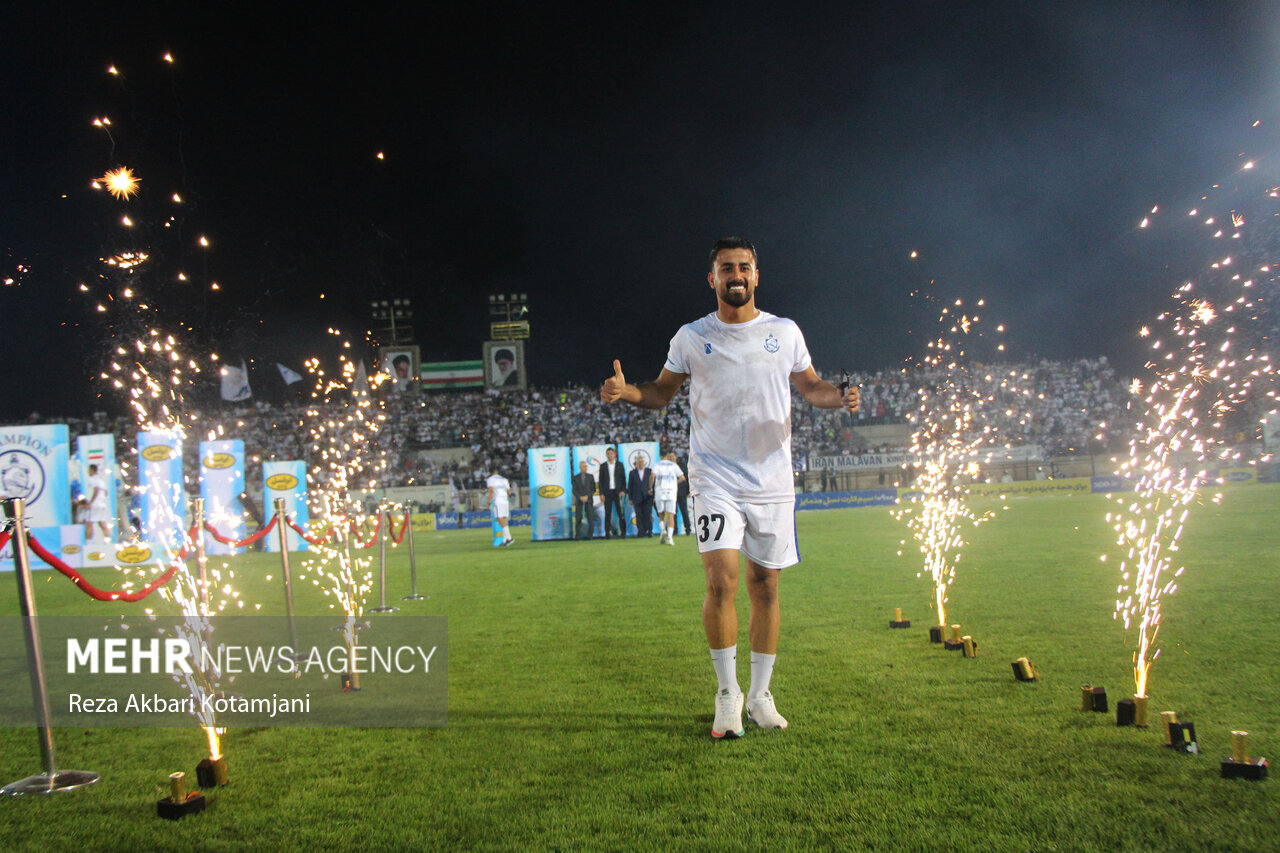
{"label": "packed crowd of spectators in the stands behind the pitch", "polygon": [[[824,374],[838,383],[840,375]],[[840,410],[818,410],[795,396],[792,456],[803,469],[809,456],[892,452],[906,447],[868,446],[858,428],[870,424],[908,424],[920,405],[920,391],[938,392],[955,382],[942,370],[915,369],[855,373],[863,391],[861,411],[847,416]],[[998,405],[987,406],[1002,442],[1034,444],[1046,459],[1083,452],[1091,438],[1101,447],[1123,443],[1126,384],[1117,380],[1106,357],[1078,361],[987,365],[973,377],[973,389]],[[265,460],[314,461],[315,426],[329,421],[342,403],[329,406],[273,406],[224,403],[187,412],[198,428],[189,430],[189,466],[196,470],[198,441],[239,438],[252,462]],[[689,441],[687,386],[663,410],[607,406],[596,386],[568,386],[507,392],[440,392],[392,394],[383,400],[385,420],[371,433],[384,460],[380,484],[413,485],[452,483],[460,489],[481,488],[494,467],[512,480],[526,478],[526,451],[612,442],[658,441],[684,453]],[[36,421],[28,421],[36,423]],[[95,414],[88,419],[56,419],[72,435],[114,433],[119,459],[129,459],[136,424],[129,418]],[[431,459],[430,451],[465,447],[470,461]]]}

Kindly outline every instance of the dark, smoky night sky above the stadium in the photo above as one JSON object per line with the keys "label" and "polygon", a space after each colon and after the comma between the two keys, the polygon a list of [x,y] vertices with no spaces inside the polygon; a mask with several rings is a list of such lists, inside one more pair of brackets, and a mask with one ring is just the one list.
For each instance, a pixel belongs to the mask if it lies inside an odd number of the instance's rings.
{"label": "dark, smoky night sky above the stadium", "polygon": [[[913,292],[984,298],[1012,359],[1125,365],[1210,256],[1138,223],[1275,170],[1280,127],[1267,3],[56,5],[0,20],[4,419],[119,409],[93,309],[128,250],[266,398],[393,297],[424,360],[479,359],[524,292],[535,384],[652,378],[727,234],[819,369],[920,355]],[[132,201],[90,187],[118,165]]]}

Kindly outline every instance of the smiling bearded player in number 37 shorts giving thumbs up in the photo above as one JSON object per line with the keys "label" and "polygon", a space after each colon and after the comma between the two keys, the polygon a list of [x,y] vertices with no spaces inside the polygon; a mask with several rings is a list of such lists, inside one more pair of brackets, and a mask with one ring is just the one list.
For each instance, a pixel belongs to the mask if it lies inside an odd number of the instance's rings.
{"label": "smiling bearded player in number 37 shorts giving thumbs up", "polygon": [[800,561],[791,473],[791,388],[819,409],[858,411],[856,387],[818,377],[804,336],[791,320],[755,307],[760,272],[755,247],[740,237],[717,242],[707,282],[716,311],[681,327],[653,382],[627,384],[622,365],[600,400],[660,409],[689,379],[689,483],[698,551],[707,574],[703,628],[716,670],[712,736],[744,733],[737,684],[739,555],[751,599],[751,684],[748,716],[762,729],[786,729],[769,693],[778,646],[778,578]]}

